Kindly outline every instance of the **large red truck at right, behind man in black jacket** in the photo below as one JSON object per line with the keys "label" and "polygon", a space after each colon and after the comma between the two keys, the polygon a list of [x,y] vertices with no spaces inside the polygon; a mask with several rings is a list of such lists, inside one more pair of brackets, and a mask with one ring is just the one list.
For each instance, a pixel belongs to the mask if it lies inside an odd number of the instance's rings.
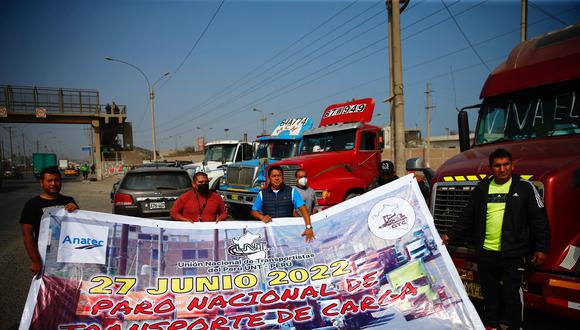
{"label": "large red truck at right, behind man in black jacket", "polygon": [[[459,112],[462,152],[438,170],[431,210],[446,233],[479,180],[491,174],[488,156],[505,148],[515,172],[539,190],[550,223],[546,262],[524,278],[525,304],[580,317],[580,25],[522,42],[487,78],[475,137],[470,145],[467,112]],[[480,298],[473,249],[450,246],[468,294]]]}

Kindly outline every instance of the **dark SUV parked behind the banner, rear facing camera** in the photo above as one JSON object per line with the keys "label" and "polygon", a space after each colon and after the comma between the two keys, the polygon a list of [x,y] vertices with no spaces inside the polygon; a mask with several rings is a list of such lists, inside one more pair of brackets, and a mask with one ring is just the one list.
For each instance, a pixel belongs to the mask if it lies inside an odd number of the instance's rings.
{"label": "dark SUV parked behind the banner, rear facing camera", "polygon": [[169,219],[175,200],[190,189],[191,178],[183,169],[137,168],[113,185],[113,213]]}

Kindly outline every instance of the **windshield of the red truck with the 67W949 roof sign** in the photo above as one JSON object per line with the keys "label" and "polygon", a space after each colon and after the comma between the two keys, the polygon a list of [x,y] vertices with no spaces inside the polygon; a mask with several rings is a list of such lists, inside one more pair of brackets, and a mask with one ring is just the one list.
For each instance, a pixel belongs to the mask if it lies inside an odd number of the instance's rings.
{"label": "windshield of the red truck with the 67W949 roof sign", "polygon": [[355,129],[304,136],[301,154],[354,149]]}

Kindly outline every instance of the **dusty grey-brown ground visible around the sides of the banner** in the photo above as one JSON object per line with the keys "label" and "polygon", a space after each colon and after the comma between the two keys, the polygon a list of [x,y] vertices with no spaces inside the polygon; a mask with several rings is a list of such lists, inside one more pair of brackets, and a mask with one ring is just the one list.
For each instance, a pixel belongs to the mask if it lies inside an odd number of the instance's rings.
{"label": "dusty grey-brown ground visible around the sides of the banner", "polygon": [[[62,193],[74,197],[84,210],[110,213],[109,192],[116,180],[113,177],[101,182],[83,182],[76,177],[65,178]],[[24,203],[39,193],[40,186],[31,176],[23,180],[5,180],[0,188],[0,329],[18,329],[32,278],[18,220]],[[526,310],[524,318],[526,329],[577,328],[574,320],[535,310]],[[382,324],[378,321],[373,324]]]}

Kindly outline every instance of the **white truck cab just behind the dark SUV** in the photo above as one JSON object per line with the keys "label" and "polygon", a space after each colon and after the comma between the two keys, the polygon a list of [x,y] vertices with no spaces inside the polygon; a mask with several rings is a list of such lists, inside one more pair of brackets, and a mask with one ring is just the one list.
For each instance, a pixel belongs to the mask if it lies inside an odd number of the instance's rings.
{"label": "white truck cab just behind the dark SUV", "polygon": [[202,162],[184,165],[183,168],[193,179],[197,172],[205,172],[209,178],[209,188],[219,187],[220,179],[228,164],[250,160],[254,156],[254,146],[249,142],[238,140],[218,140],[205,145]]}

